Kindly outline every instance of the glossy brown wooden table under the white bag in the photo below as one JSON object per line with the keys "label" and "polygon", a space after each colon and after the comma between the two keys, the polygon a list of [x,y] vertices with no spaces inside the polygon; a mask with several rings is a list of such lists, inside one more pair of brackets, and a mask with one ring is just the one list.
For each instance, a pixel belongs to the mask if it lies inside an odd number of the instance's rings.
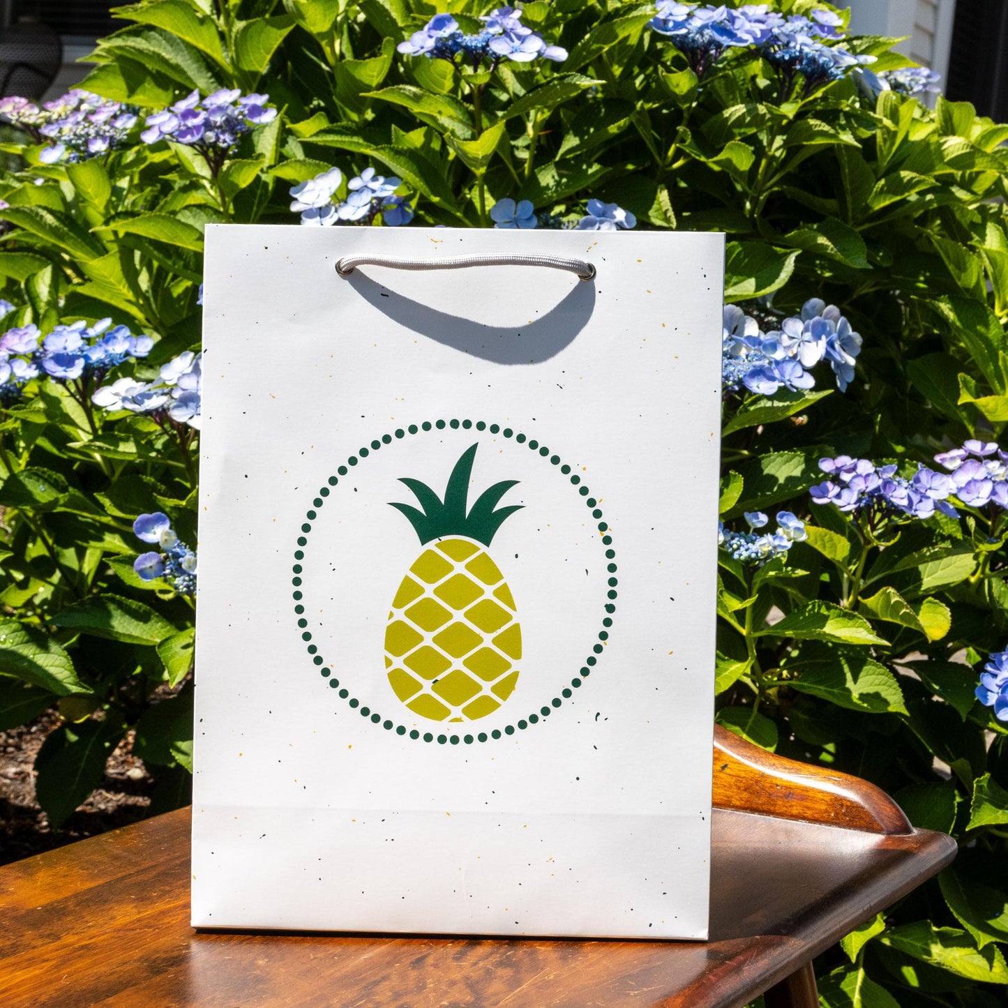
{"label": "glossy brown wooden table under the white bag", "polygon": [[956,844],[734,736],[714,766],[708,942],[196,931],[181,809],[0,869],[0,1006],[814,1008],[812,957]]}

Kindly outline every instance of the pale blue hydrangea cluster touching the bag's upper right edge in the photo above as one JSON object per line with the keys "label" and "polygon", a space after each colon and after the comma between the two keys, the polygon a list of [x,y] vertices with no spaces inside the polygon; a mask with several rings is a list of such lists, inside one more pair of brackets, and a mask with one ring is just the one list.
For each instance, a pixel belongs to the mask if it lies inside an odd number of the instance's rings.
{"label": "pale blue hydrangea cluster touching the bag's upper right edge", "polygon": [[726,304],[722,329],[722,386],[743,386],[758,395],[814,387],[809,369],[826,361],[842,392],[854,380],[862,339],[835,304],[818,297],[805,301],[799,314],[764,333],[760,324],[735,304]]}

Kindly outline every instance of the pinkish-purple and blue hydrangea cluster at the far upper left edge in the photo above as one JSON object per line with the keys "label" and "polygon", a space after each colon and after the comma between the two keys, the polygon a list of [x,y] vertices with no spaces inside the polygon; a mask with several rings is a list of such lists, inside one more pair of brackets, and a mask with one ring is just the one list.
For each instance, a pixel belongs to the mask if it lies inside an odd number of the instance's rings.
{"label": "pinkish-purple and blue hydrangea cluster at the far upper left edge", "polygon": [[41,108],[27,99],[0,100],[0,115],[27,131],[36,143],[49,141],[38,152],[43,164],[84,161],[123,146],[136,125],[136,110],[90,91],[74,88]]}

